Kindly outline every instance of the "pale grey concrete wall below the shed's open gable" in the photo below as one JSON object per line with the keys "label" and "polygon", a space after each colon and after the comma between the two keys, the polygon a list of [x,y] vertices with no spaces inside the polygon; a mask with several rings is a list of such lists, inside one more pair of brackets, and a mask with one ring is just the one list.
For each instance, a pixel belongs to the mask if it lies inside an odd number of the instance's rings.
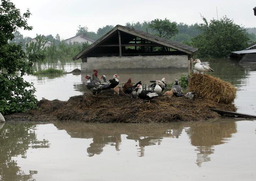
{"label": "pale grey concrete wall below the shed's open gable", "polygon": [[81,70],[114,68],[189,68],[187,55],[88,57]]}

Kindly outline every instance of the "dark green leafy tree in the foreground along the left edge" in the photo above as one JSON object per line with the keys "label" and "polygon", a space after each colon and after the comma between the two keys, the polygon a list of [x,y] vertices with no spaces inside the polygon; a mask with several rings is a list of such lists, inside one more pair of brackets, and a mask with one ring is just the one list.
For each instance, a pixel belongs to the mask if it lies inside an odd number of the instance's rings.
{"label": "dark green leafy tree in the foreground along the left edge", "polygon": [[[18,28],[32,30],[27,24],[29,10],[23,15],[10,2],[1,0],[0,5],[0,112],[3,115],[26,111],[36,108],[37,99],[34,96],[35,88],[31,83],[24,81],[25,73],[32,73],[33,64],[37,55],[27,57],[22,50],[21,43],[8,43],[14,38],[13,33]],[[16,72],[20,72],[20,76]]]}

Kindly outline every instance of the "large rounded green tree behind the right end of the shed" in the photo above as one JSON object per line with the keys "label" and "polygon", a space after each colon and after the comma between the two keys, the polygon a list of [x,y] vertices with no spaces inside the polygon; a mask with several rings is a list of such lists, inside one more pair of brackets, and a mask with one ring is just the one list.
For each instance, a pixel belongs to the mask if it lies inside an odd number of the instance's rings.
{"label": "large rounded green tree behind the right end of the shed", "polygon": [[197,56],[224,57],[231,51],[243,50],[248,46],[248,34],[243,27],[233,20],[222,17],[220,20],[203,18],[204,24],[199,25],[200,35],[192,38],[192,46],[197,47]]}

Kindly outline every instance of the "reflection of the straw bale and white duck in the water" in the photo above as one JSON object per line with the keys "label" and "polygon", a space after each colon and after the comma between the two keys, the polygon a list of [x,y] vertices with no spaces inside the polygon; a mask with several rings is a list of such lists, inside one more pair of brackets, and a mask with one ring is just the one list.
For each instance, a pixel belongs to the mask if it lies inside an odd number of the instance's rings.
{"label": "reflection of the straw bale and white duck in the water", "polygon": [[203,162],[211,161],[210,154],[214,153],[214,146],[226,143],[232,134],[236,133],[234,121],[216,123],[198,123],[191,125],[186,133],[191,139],[191,144],[196,146],[198,166]]}

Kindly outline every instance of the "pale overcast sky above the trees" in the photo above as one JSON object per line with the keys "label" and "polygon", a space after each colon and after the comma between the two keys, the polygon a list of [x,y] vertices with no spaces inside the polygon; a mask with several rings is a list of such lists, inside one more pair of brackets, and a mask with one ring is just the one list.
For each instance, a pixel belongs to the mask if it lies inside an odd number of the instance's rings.
{"label": "pale overcast sky above the trees", "polygon": [[31,31],[20,30],[24,36],[37,34],[66,39],[76,34],[77,26],[87,26],[96,32],[105,25],[125,25],[167,18],[177,23],[202,23],[200,13],[210,20],[227,15],[238,25],[256,27],[253,8],[255,0],[12,0],[24,13],[32,13],[28,24]]}

